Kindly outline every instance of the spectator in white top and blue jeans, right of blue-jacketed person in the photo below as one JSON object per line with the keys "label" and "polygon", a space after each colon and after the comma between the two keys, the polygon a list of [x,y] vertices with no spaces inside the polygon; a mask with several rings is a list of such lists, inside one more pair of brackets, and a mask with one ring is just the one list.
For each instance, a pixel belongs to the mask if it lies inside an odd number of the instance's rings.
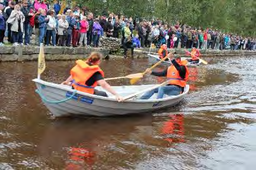
{"label": "spectator in white top and blue jeans, right of blue-jacketed person", "polygon": [[56,46],[56,19],[55,12],[50,11],[50,15],[47,15],[49,22],[46,24],[46,45],[49,45],[49,41],[52,39],[52,45]]}

